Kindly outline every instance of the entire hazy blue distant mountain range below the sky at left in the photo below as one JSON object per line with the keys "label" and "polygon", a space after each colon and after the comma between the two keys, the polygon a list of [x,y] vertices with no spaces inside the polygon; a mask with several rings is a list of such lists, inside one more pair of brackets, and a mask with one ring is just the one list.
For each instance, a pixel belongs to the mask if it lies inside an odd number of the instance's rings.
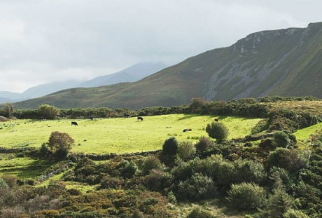
{"label": "entire hazy blue distant mountain range below the sky at left", "polygon": [[116,83],[134,82],[144,77],[154,74],[157,71],[167,67],[162,62],[141,62],[131,67],[106,76],[98,76],[90,81],[63,81],[54,83],[45,83],[39,86],[31,87],[23,93],[11,93],[0,91],[0,104],[3,102],[20,102],[31,98],[42,97],[59,90],[75,87],[98,87]]}

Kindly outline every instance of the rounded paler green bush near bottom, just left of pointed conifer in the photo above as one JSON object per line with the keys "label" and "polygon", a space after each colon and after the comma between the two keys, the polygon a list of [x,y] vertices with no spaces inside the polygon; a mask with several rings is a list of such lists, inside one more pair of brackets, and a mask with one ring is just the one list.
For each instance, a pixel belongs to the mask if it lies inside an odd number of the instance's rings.
{"label": "rounded paler green bush near bottom, just left of pointed conifer", "polygon": [[238,210],[251,210],[263,207],[266,200],[264,188],[253,183],[233,184],[228,191],[229,203]]}

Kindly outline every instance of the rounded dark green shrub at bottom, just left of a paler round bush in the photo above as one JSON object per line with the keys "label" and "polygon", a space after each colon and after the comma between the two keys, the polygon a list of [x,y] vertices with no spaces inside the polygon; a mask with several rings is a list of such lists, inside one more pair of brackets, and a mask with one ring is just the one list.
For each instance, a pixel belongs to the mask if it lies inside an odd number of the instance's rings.
{"label": "rounded dark green shrub at bottom, just left of a paler round bush", "polygon": [[217,195],[217,189],[211,177],[195,173],[193,177],[178,185],[179,196],[190,200],[202,200]]}

